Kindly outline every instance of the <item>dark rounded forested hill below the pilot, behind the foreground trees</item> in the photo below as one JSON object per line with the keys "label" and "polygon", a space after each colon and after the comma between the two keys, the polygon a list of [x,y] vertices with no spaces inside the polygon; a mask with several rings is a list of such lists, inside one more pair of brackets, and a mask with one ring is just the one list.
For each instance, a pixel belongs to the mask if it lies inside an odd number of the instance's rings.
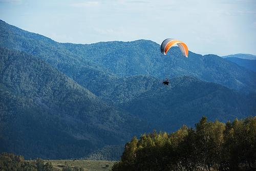
{"label": "dark rounded forested hill below the pilot, behind the foreground trees", "polygon": [[119,106],[162,125],[164,131],[174,132],[182,124],[193,127],[202,116],[221,122],[254,116],[253,104],[220,84],[183,75],[170,79],[168,86],[156,86]]}

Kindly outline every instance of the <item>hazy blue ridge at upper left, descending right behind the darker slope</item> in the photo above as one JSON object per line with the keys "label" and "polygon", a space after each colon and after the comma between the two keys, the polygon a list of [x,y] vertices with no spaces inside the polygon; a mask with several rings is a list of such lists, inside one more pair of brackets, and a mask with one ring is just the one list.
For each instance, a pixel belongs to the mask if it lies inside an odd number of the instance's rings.
{"label": "hazy blue ridge at upper left, descending right behind the darker slope", "polygon": [[[63,73],[72,69],[72,73],[82,71],[84,68],[100,70],[104,73],[113,75],[113,73],[89,60],[84,60],[78,55],[59,48],[60,43],[51,40],[45,36],[30,33],[14,26],[10,26],[0,20],[0,47],[24,51],[37,56]],[[7,30],[5,30],[8,28]]]}

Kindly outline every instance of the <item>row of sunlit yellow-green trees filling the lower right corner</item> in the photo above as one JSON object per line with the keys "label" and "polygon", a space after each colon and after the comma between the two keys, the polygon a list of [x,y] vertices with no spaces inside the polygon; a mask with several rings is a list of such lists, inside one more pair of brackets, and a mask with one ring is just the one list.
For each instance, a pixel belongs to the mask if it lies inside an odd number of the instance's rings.
{"label": "row of sunlit yellow-green trees filling the lower right corner", "polygon": [[256,117],[144,134],[125,144],[112,170],[255,170]]}

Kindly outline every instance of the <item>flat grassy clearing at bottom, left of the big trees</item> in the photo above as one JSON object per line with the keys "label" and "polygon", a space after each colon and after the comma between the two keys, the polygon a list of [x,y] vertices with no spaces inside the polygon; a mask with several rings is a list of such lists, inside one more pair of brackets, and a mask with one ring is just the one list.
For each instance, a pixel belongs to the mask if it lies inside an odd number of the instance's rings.
{"label": "flat grassy clearing at bottom, left of the big trees", "polygon": [[[45,163],[48,160],[45,160]],[[55,170],[62,170],[62,167],[66,164],[72,169],[75,167],[81,167],[84,171],[100,171],[111,170],[113,164],[116,161],[99,161],[99,160],[50,160]]]}

